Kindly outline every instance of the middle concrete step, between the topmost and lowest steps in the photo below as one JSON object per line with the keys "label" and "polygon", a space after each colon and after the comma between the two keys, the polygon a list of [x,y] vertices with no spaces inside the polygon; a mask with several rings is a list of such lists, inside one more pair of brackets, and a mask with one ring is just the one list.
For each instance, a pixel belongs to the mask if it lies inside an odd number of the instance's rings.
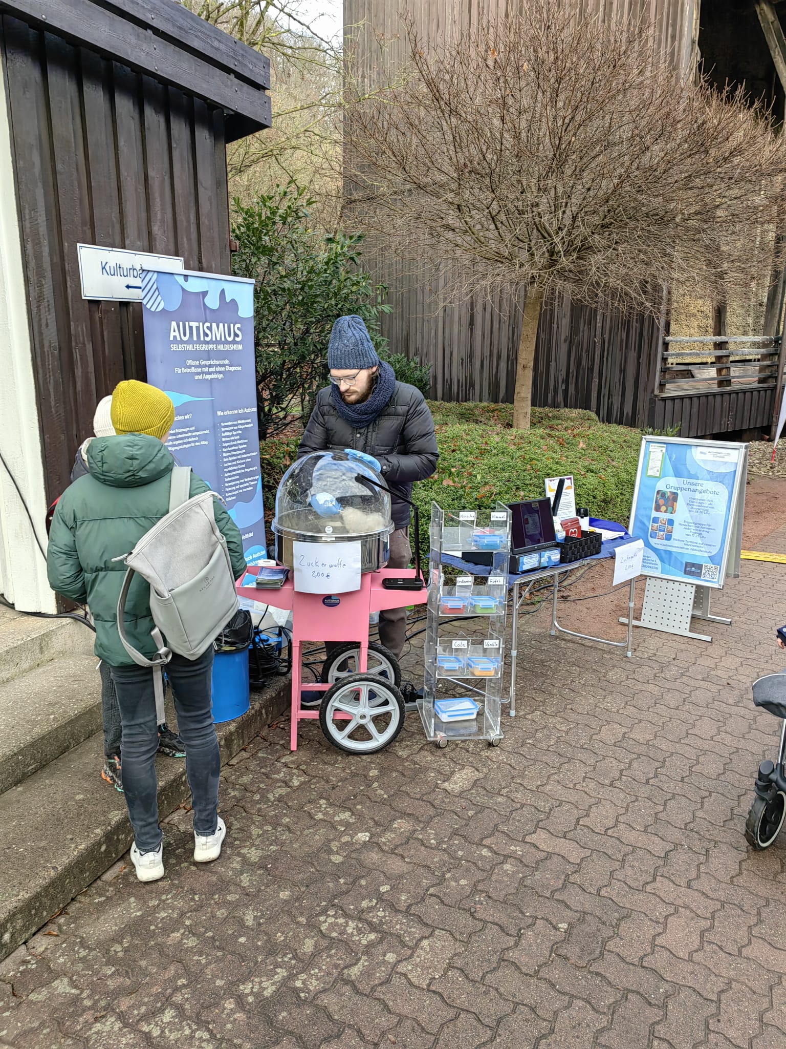
{"label": "middle concrete step, between the topmost and lowest steps", "polygon": [[101,728],[97,665],[64,657],[0,685],[0,793]]}

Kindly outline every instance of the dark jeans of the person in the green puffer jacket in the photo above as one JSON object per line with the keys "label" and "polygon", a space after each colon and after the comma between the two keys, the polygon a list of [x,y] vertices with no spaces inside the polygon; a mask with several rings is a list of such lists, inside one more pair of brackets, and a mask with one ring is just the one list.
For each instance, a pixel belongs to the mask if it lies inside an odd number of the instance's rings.
{"label": "dark jeans of the person in the green puffer jacket", "polygon": [[[211,710],[213,646],[191,661],[173,656],[167,665],[177,713],[177,727],[185,743],[185,774],[191,787],[194,831],[215,834],[218,826],[218,777],[221,759]],[[112,679],[123,719],[123,790],[139,852],[152,852],[161,842],[158,826],[153,671],[144,666],[113,666]]]}

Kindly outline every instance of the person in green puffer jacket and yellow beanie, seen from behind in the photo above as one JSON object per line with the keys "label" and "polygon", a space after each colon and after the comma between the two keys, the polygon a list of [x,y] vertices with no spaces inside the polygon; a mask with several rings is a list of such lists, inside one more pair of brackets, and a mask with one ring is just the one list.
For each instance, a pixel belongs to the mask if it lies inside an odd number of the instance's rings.
{"label": "person in green puffer jacket and yellow beanie, seen from behind", "polygon": [[[95,437],[87,448],[89,473],[61,496],[49,533],[47,570],[52,590],[87,603],[95,624],[95,655],[111,667],[123,721],[122,778],[134,829],[131,859],[140,881],[163,875],[158,826],[155,752],[158,747],[153,675],[137,666],[117,633],[117,600],[129,554],[169,512],[170,474],[175,465],[165,442],[174,422],[170,398],[147,383],[121,383],[112,394],[116,436]],[[195,474],[191,495],[209,491]],[[245,572],[242,541],[224,506],[214,500],[216,523],[226,539],[233,573]],[[151,637],[150,586],[136,576],[126,602],[128,639],[145,656],[155,655]],[[190,661],[174,655],[167,667],[185,741],[185,769],[194,808],[194,858],[216,859],[225,835],[218,816],[220,758],[211,712],[212,646]]]}

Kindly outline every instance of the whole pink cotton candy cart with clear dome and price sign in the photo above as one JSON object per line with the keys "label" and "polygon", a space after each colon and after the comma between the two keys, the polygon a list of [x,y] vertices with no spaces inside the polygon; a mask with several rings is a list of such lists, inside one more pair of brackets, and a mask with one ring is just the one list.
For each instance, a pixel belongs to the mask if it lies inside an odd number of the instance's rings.
{"label": "whole pink cotton candy cart with clear dome and price sign", "polygon": [[[387,648],[369,643],[369,616],[423,604],[427,590],[419,555],[414,576],[384,568],[393,530],[390,492],[357,455],[349,449],[313,452],[289,467],[276,493],[272,521],[277,558],[290,568],[289,578],[278,591],[238,586],[243,597],[292,613],[292,750],[301,721],[319,718],[328,740],[352,754],[381,750],[403,726],[398,662]],[[304,686],[303,645],[325,641],[335,645],[322,681]],[[319,710],[303,709],[304,690],[325,692]]]}

